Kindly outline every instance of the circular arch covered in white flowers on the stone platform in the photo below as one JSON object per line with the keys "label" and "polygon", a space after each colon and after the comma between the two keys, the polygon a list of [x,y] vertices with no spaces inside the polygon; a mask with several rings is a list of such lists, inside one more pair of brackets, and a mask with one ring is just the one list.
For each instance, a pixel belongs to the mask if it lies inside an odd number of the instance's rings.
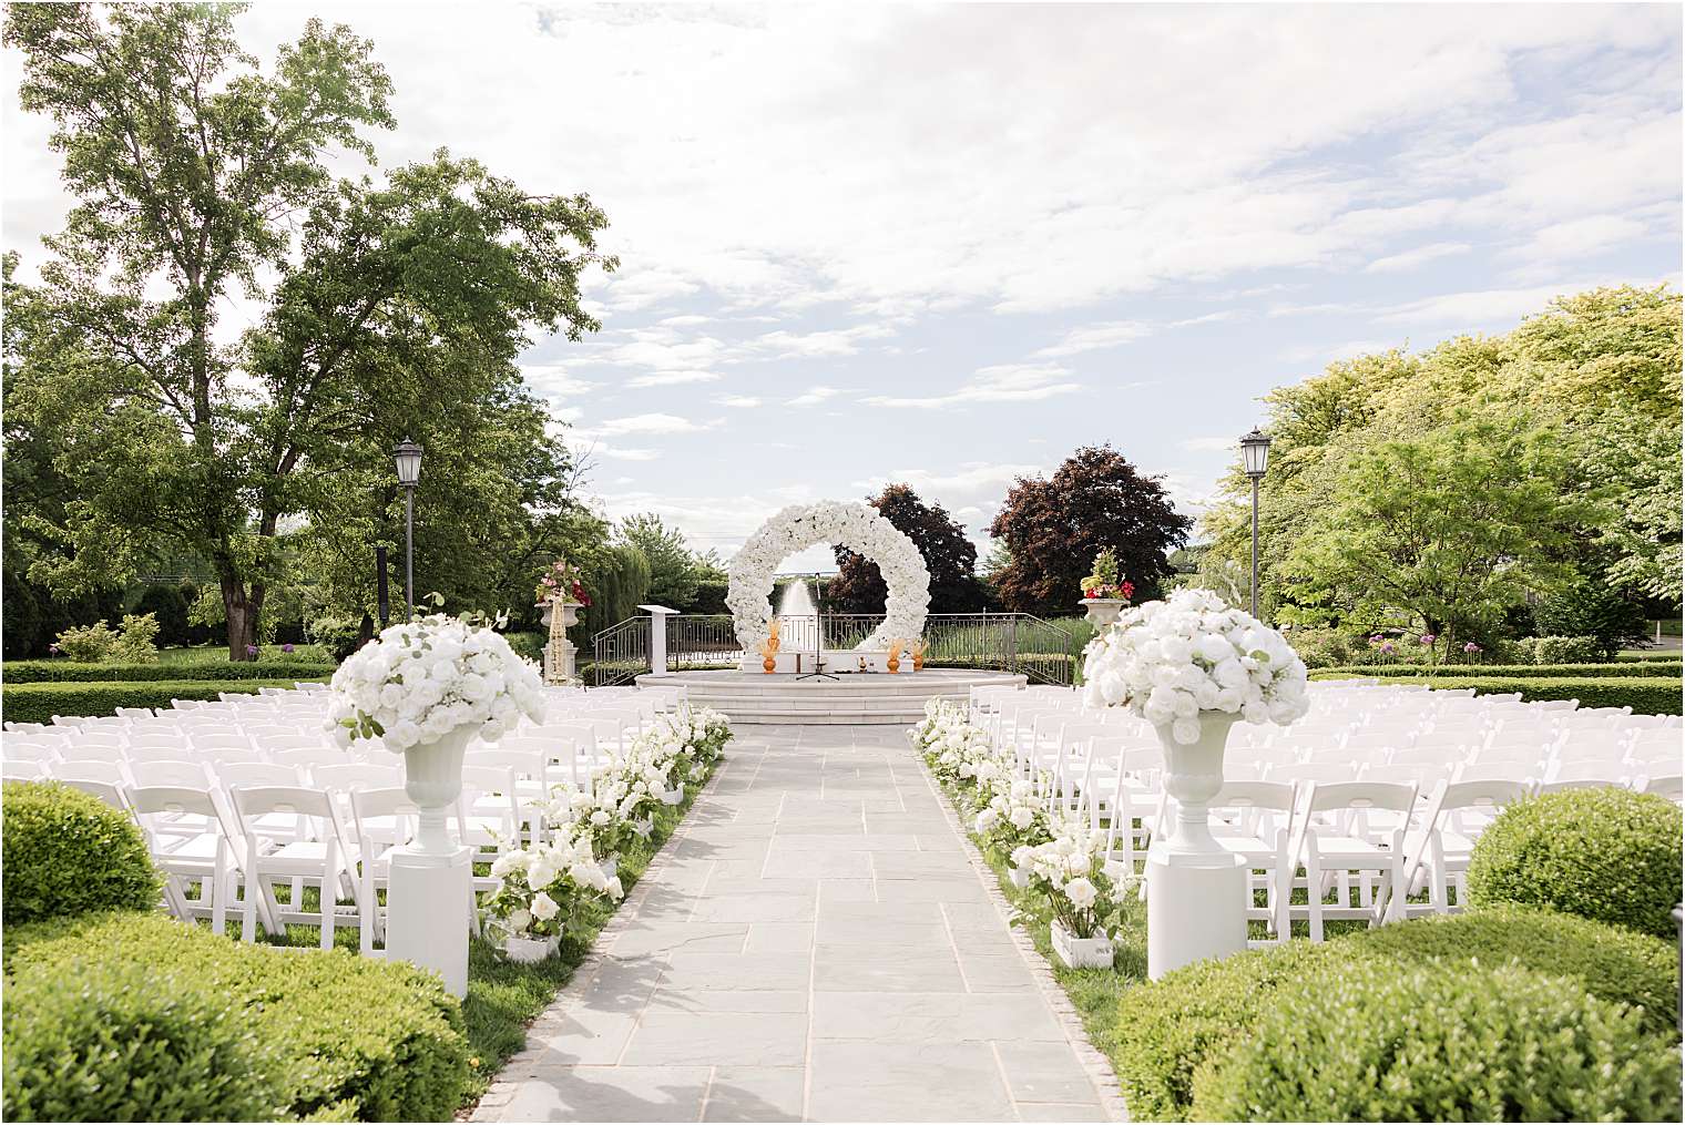
{"label": "circular arch covered in white flowers on the stone platform", "polygon": [[890,589],[883,625],[859,648],[888,648],[890,640],[912,640],[925,630],[930,571],[912,539],[864,504],[797,504],[762,524],[731,559],[726,606],[743,652],[760,652],[767,643],[768,598],[778,564],[817,544],[842,544],[883,573]]}

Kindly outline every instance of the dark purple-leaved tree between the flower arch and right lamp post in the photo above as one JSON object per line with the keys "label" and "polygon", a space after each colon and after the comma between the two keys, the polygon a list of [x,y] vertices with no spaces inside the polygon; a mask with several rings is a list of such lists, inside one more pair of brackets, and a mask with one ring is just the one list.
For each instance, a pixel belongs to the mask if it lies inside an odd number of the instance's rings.
{"label": "dark purple-leaved tree between the flower arch and right lamp post", "polygon": [[1142,477],[1109,445],[1083,446],[1051,477],[1019,477],[1006,493],[989,527],[1009,552],[994,584],[1009,610],[1068,615],[1094,556],[1112,547],[1136,600],[1146,601],[1159,594],[1171,574],[1166,556],[1191,525],[1158,477]]}

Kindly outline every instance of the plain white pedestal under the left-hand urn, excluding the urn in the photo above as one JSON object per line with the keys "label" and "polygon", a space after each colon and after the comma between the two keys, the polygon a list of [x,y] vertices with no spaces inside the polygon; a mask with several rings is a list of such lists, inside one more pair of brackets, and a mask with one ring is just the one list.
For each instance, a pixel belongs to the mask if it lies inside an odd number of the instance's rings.
{"label": "plain white pedestal under the left-hand urn, excluding the urn", "polygon": [[399,847],[386,889],[386,958],[431,968],[457,997],[468,994],[468,857],[467,847],[445,856]]}

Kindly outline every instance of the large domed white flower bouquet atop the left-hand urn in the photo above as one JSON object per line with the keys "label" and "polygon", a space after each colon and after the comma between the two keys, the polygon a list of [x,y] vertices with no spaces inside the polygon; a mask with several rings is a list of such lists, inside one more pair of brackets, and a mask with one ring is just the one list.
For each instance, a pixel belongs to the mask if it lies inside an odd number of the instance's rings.
{"label": "large domed white flower bouquet atop the left-hand urn", "polygon": [[538,667],[489,626],[433,615],[393,625],[334,672],[329,729],[403,753],[460,726],[485,741],[544,717]]}

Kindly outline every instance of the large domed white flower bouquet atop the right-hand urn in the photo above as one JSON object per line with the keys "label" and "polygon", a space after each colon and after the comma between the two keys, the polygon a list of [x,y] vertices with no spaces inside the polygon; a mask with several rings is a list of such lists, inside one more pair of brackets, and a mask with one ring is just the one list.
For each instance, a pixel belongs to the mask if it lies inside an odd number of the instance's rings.
{"label": "large domed white flower bouquet atop the right-hand urn", "polygon": [[1082,665],[1089,706],[1129,707],[1200,739],[1200,712],[1287,726],[1311,707],[1304,660],[1287,640],[1210,589],[1126,610],[1090,643]]}

